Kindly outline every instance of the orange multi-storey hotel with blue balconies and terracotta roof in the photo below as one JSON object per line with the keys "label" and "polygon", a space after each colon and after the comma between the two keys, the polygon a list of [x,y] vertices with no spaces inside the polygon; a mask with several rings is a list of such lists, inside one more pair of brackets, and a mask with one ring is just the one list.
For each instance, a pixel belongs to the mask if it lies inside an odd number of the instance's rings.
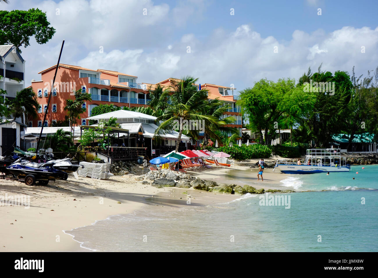
{"label": "orange multi-storey hotel with blue balconies and terracotta roof", "polygon": [[[42,126],[43,112],[46,109],[48,101],[48,92],[50,84],[53,81],[56,65],[40,71],[41,80],[32,81],[31,86],[37,93],[40,103],[38,117],[28,121],[28,127]],[[91,115],[91,110],[100,104],[113,104],[124,108],[135,106],[148,106],[150,87],[161,84],[169,86],[170,79],[158,82],[156,84],[138,83],[137,76],[127,75],[118,71],[111,70],[91,70],[88,68],[59,64],[57,76],[55,79],[53,96],[51,98],[51,111],[47,113],[44,126],[54,126],[57,121],[64,121],[67,111],[64,110],[66,99],[74,99],[71,93],[74,89],[81,88],[82,91],[88,92],[92,96],[92,101],[85,103],[86,112],[81,114],[81,119],[77,124],[87,125],[87,118]],[[76,87],[74,87],[76,85]],[[201,88],[209,90],[209,99],[220,98],[230,108],[225,113],[225,117],[232,115],[235,118],[235,124],[229,126],[242,132],[242,117],[239,107],[235,104],[234,88],[214,84],[202,84]]]}

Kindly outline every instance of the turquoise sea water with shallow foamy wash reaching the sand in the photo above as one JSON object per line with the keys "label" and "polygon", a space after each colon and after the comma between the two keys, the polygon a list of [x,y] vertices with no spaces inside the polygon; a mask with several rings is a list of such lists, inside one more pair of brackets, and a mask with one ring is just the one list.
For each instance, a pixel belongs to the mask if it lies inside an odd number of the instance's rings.
{"label": "turquoise sea water with shallow foamy wash reaching the sand", "polygon": [[169,213],[149,206],[67,233],[98,251],[377,252],[378,165],[362,167],[330,175],[284,175],[284,186],[317,191],[271,194],[290,196],[289,209],[260,205],[262,195],[246,194],[229,203],[188,205]]}

